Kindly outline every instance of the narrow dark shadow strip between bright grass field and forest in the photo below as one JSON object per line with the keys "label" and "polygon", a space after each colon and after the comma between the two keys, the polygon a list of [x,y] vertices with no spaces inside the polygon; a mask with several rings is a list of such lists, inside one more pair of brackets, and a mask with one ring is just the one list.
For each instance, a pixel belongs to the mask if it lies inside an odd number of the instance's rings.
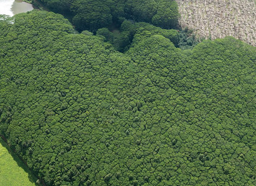
{"label": "narrow dark shadow strip between bright grass field and forest", "polygon": [[30,182],[32,182],[32,184],[35,184],[35,185],[41,185],[41,184],[36,184],[37,177],[35,176],[35,174],[25,165],[25,163],[19,158],[19,156],[17,156],[17,154],[14,153],[14,151],[12,151],[12,149],[8,146],[8,144],[4,141],[4,139],[1,138],[1,136],[0,136],[0,144],[7,149],[8,153],[11,154],[12,158],[14,159],[14,161],[16,161],[17,165],[21,167],[29,175],[28,178]]}

